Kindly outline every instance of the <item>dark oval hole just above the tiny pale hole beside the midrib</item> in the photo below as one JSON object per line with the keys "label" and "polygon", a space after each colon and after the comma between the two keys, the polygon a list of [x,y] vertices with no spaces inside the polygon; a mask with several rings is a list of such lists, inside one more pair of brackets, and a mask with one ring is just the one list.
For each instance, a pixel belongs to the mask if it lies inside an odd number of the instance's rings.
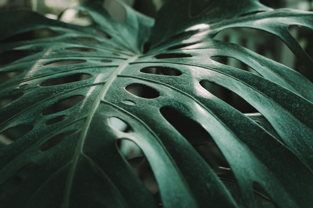
{"label": "dark oval hole just above the tiny pale hole beside the midrib", "polygon": [[160,94],[153,88],[142,84],[132,84],[125,88],[129,93],[141,98],[157,98]]}

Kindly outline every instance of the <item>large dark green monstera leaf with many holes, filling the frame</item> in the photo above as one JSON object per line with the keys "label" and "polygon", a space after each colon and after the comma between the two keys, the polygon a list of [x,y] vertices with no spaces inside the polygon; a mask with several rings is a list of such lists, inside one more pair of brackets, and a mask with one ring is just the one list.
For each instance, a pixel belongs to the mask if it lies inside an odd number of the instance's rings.
{"label": "large dark green monstera leaf with many holes, filling the frame", "polygon": [[[312,83],[213,37],[264,30],[311,66],[288,27],[312,29],[313,13],[181,0],[168,1],[154,22],[120,5],[124,22],[97,3],[76,7],[92,18],[87,27],[0,13],[1,207],[312,207]],[[218,87],[254,114],[213,95]],[[125,141],[142,154],[124,154]],[[201,157],[204,144],[216,145],[226,167]],[[157,190],[134,171],[145,162]]]}

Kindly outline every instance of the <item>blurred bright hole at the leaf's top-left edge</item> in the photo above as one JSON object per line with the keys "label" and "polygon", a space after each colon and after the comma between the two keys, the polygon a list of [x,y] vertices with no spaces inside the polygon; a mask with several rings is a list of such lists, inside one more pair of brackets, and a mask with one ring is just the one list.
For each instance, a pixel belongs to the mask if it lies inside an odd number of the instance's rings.
{"label": "blurred bright hole at the leaf's top-left edge", "polygon": [[94,24],[94,21],[88,12],[75,9],[64,10],[64,12],[62,12],[61,16],[59,17],[59,20],[61,22],[84,27]]}

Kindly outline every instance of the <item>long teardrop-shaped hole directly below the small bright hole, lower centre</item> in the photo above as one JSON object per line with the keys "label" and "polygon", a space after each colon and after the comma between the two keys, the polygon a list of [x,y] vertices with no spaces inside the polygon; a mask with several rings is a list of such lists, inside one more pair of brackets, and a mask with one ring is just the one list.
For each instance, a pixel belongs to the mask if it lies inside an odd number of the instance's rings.
{"label": "long teardrop-shaped hole directly below the small bright hole, lower centre", "polygon": [[141,148],[130,139],[124,138],[118,139],[116,144],[122,157],[126,159],[151,194],[157,193],[159,188],[154,173]]}

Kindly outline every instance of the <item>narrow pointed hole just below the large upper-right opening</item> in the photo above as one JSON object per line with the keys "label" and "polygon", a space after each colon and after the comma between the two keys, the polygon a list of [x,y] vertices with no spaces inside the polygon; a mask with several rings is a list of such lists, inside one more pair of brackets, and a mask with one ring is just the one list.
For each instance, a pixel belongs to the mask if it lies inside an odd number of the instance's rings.
{"label": "narrow pointed hole just below the large upper-right opening", "polygon": [[210,58],[212,60],[214,60],[214,61],[217,61],[217,62],[221,63],[221,64],[225,64],[225,65],[228,65],[228,66],[236,67],[238,69],[249,71],[249,72],[254,73],[256,75],[262,76],[256,70],[252,69],[251,67],[249,67],[244,62],[242,62],[242,61],[240,61],[238,59],[235,59],[233,57],[229,57],[229,56],[211,56]]}

